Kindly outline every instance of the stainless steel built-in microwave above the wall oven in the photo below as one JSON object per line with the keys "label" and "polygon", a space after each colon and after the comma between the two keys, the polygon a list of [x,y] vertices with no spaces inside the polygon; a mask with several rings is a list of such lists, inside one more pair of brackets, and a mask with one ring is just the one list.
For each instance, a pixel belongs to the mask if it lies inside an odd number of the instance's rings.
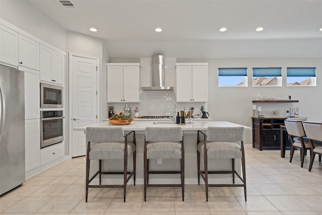
{"label": "stainless steel built-in microwave above the wall oven", "polygon": [[63,87],[40,83],[40,108],[63,108]]}

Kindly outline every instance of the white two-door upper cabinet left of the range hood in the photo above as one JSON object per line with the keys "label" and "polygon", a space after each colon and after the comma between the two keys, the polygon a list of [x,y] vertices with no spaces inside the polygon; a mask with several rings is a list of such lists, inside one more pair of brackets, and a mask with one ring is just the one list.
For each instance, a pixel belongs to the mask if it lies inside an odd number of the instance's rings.
{"label": "white two-door upper cabinet left of the range hood", "polygon": [[108,102],[139,102],[139,94],[139,63],[107,63]]}

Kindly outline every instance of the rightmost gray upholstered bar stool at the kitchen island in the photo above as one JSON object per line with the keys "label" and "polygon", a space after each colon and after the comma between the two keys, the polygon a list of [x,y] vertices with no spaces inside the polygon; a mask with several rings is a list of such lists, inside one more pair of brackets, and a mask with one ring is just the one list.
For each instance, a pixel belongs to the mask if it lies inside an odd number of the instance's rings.
{"label": "rightmost gray upholstered bar stool at the kitchen island", "polygon": [[[199,135],[200,134],[200,135]],[[200,137],[202,140],[200,140]],[[203,138],[202,138],[203,137]],[[208,187],[244,187],[246,193],[246,168],[244,151],[244,127],[208,127],[207,134],[198,130],[197,159],[198,159],[198,184],[200,175],[205,181],[206,201],[208,201]],[[237,143],[240,141],[240,145]],[[204,159],[204,171],[200,170],[200,155]],[[208,171],[208,159],[231,159],[231,171]],[[235,159],[241,159],[243,178],[235,170]],[[232,184],[209,184],[208,174],[232,174]],[[243,184],[235,184],[235,174]]]}

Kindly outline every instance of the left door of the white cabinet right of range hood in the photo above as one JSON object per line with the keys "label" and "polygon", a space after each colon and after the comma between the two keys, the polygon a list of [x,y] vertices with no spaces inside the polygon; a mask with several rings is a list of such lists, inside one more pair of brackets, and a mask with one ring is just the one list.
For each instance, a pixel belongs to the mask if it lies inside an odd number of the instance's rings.
{"label": "left door of the white cabinet right of range hood", "polygon": [[192,101],[192,66],[177,66],[177,102]]}

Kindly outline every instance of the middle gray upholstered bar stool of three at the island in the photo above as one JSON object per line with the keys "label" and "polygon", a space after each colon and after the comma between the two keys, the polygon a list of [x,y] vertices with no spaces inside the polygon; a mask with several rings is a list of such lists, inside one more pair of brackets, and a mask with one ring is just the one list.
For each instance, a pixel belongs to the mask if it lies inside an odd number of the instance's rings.
{"label": "middle gray upholstered bar stool of three at the island", "polygon": [[[180,159],[180,171],[150,171],[149,159]],[[149,174],[181,174],[181,184],[149,184]],[[146,187],[182,187],[185,196],[185,153],[181,127],[146,127],[144,141],[144,201]]]}

